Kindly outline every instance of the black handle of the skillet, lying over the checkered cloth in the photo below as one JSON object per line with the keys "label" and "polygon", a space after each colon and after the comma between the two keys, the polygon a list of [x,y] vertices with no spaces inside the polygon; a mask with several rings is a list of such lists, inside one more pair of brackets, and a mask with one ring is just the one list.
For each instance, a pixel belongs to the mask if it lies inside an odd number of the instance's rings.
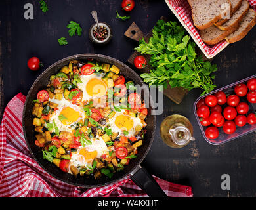
{"label": "black handle of the skillet, lying over the checkered cloth", "polygon": [[131,180],[150,197],[167,197],[158,185],[158,182],[140,165],[131,173]]}

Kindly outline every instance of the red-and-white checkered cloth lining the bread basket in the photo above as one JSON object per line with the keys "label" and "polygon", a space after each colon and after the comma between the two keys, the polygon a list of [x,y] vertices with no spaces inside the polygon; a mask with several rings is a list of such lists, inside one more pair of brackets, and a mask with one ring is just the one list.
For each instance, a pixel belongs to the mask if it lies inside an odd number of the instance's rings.
{"label": "red-and-white checkered cloth lining the bread basket", "polygon": [[[256,9],[256,0],[248,1],[251,7],[254,7],[254,9]],[[179,15],[182,22],[187,26],[187,30],[190,31],[190,35],[192,35],[194,41],[197,41],[197,43],[199,43],[199,47],[201,47],[205,51],[203,53],[206,53],[205,55],[208,58],[212,58],[216,54],[220,53],[224,49],[224,47],[228,45],[226,40],[223,40],[216,45],[206,45],[205,43],[203,43],[198,30],[193,24],[191,8],[187,0],[169,0],[169,6],[173,7],[177,15]]]}

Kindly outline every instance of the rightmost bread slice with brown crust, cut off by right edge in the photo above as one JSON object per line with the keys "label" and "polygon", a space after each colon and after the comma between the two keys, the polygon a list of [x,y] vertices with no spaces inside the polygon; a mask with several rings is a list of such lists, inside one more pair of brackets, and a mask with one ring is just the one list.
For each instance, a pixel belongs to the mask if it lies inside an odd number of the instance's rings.
{"label": "rightmost bread slice with brown crust, cut off by right edge", "polygon": [[249,9],[247,14],[244,16],[240,27],[238,30],[234,31],[234,33],[230,33],[225,39],[229,43],[234,43],[236,41],[240,41],[249,33],[249,31],[256,24],[256,12],[253,9]]}

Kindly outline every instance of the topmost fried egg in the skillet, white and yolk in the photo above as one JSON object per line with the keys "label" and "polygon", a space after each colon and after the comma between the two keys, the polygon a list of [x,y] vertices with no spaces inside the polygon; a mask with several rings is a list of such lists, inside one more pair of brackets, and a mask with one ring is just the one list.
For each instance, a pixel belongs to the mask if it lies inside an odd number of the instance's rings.
{"label": "topmost fried egg in the skillet, white and yolk", "polygon": [[81,75],[78,88],[83,91],[83,101],[106,95],[107,86],[102,80],[104,74]]}

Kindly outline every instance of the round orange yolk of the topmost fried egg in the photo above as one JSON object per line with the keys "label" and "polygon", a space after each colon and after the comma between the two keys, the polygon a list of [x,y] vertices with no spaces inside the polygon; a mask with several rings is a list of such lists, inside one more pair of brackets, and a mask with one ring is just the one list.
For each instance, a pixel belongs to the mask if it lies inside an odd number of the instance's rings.
{"label": "round orange yolk of the topmost fried egg", "polygon": [[101,79],[93,78],[88,81],[86,91],[90,96],[103,96],[106,94],[106,84]]}

